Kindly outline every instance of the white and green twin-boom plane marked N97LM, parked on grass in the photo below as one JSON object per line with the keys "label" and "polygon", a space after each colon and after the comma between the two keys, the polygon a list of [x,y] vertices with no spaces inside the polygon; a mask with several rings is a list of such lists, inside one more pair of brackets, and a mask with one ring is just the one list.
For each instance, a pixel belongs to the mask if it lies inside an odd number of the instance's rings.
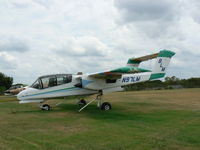
{"label": "white and green twin-boom plane marked N97LM, parked on grass", "polygon": [[[159,53],[146,55],[138,58],[130,58],[127,65],[113,70],[107,70],[88,74],[53,74],[39,77],[30,87],[21,91],[17,98],[20,103],[42,103],[42,110],[50,110],[45,101],[51,98],[68,97],[68,96],[88,96],[97,94],[97,106],[102,110],[110,110],[111,104],[102,102],[102,95],[108,92],[120,91],[122,86],[138,82],[155,80],[163,78],[166,68],[169,65],[171,57],[175,55],[169,50],[161,50]],[[152,70],[139,68],[143,61],[156,59],[155,66]],[[92,100],[92,101],[94,101]],[[78,104],[83,106],[83,110],[92,101],[86,103],[80,99]]]}

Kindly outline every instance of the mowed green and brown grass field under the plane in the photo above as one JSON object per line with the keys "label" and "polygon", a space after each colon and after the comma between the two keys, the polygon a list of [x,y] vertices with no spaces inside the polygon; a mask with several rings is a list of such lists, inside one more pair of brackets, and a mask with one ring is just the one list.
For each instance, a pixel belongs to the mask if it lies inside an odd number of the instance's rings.
{"label": "mowed green and brown grass field under the plane", "polygon": [[[89,97],[91,99],[91,97]],[[199,150],[200,89],[118,92],[79,113],[77,100],[18,104],[0,97],[0,150]]]}

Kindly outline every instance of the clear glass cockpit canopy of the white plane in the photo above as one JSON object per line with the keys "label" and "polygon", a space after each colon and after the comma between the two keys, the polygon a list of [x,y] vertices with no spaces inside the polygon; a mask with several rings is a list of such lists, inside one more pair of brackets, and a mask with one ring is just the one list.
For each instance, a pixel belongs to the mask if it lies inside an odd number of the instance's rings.
{"label": "clear glass cockpit canopy of the white plane", "polygon": [[53,86],[72,82],[72,74],[55,74],[39,77],[32,85],[32,88],[45,89]]}

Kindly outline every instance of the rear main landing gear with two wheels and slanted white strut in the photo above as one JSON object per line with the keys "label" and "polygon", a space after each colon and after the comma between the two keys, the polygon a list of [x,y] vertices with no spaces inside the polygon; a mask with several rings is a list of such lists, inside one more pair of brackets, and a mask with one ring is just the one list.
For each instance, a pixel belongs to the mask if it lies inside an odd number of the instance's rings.
{"label": "rear main landing gear with two wheels and slanted white strut", "polygon": [[[86,101],[84,99],[81,99],[78,102],[79,106],[82,106],[81,109],[79,109],[79,112],[81,112],[83,109],[85,109],[89,104],[91,104],[93,101],[97,100],[97,107],[100,108],[101,110],[107,111],[112,109],[112,106],[110,103],[108,102],[103,102],[102,103],[102,96],[103,96],[103,92],[99,91],[99,94],[96,96],[95,99],[91,100],[90,102],[86,103]],[[81,104],[81,105],[80,105]]]}

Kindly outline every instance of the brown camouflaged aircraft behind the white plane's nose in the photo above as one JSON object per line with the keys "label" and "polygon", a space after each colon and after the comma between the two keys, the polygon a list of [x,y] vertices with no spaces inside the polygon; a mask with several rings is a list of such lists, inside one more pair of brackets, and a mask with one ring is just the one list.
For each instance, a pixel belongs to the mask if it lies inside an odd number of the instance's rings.
{"label": "brown camouflaged aircraft behind the white plane's nose", "polygon": [[10,95],[17,95],[20,93],[22,90],[24,90],[26,87],[23,84],[15,84],[12,85],[9,89],[4,91],[4,95],[10,96]]}

